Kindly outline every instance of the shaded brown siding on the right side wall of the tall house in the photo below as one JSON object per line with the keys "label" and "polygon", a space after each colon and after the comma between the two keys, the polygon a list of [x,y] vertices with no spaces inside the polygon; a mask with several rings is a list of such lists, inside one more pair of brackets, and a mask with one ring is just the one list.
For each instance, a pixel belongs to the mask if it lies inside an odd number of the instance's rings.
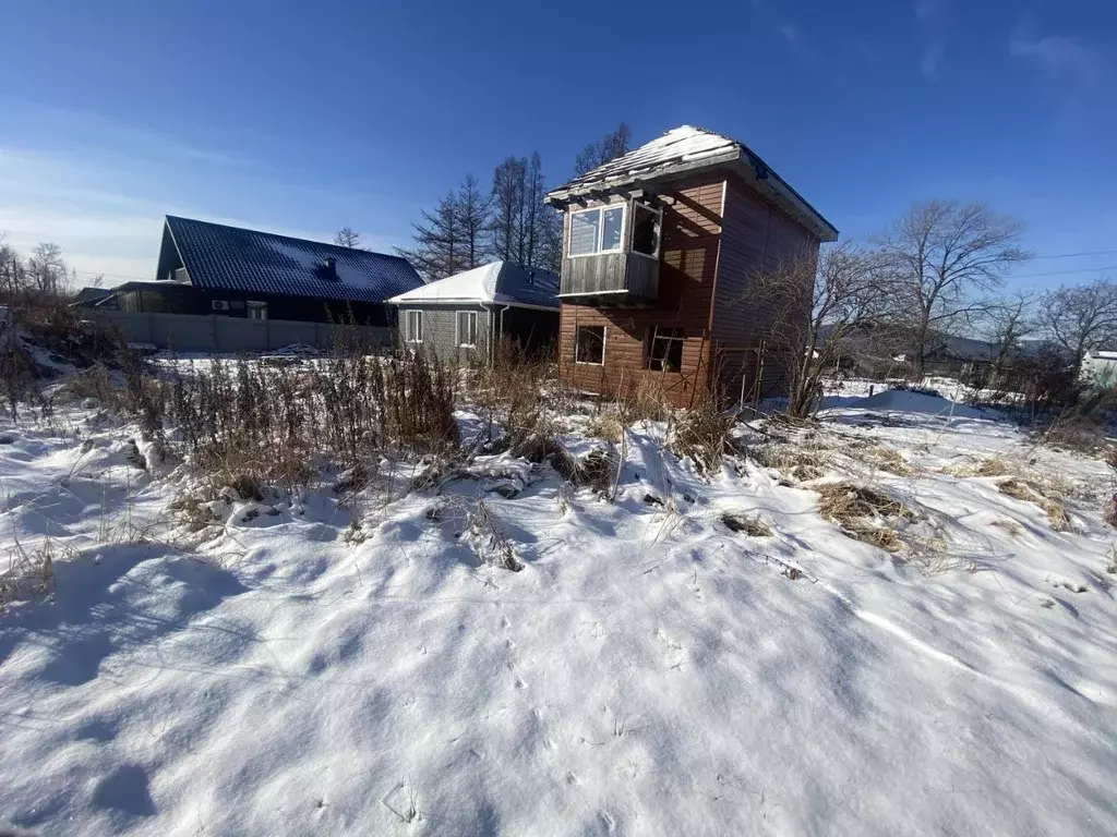
{"label": "shaded brown siding on the right side wall of the tall house", "polygon": [[[712,329],[714,364],[727,395],[739,396],[743,374],[745,391],[753,389],[758,349],[775,319],[773,308],[757,298],[756,275],[803,252],[817,256],[818,249],[818,240],[805,228],[735,176],[727,180]],[[804,294],[799,316],[809,316],[809,306]],[[768,346],[763,363],[761,395],[782,394],[786,389],[786,350]]]}

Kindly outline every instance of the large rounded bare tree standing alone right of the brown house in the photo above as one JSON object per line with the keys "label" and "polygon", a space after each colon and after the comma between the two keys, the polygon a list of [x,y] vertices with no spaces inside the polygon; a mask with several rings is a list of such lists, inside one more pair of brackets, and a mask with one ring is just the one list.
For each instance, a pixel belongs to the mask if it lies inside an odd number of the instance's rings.
{"label": "large rounded bare tree standing alone right of the brown house", "polygon": [[1030,257],[1020,247],[1022,230],[981,202],[926,201],[879,238],[891,273],[889,319],[905,333],[917,377],[937,335],[987,311],[987,295]]}

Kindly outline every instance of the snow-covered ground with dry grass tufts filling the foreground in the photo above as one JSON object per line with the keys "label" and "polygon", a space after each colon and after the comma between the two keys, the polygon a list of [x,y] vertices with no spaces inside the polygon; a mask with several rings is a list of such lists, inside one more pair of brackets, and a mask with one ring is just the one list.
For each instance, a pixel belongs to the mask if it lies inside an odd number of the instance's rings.
{"label": "snow-covered ground with dry grass tufts filling the foreground", "polygon": [[[197,548],[130,429],[95,408],[0,426],[0,547],[55,557],[51,597],[0,615],[0,821],[1117,833],[1113,470],[961,405],[863,395],[768,431],[821,481],[745,459],[707,479],[638,426],[614,502],[504,455],[441,492],[218,503]],[[600,446],[579,421],[564,442]],[[1069,530],[964,475],[990,459],[1057,493]],[[915,510],[910,548],[824,520],[811,489],[839,478]],[[478,499],[522,571],[479,562]]]}

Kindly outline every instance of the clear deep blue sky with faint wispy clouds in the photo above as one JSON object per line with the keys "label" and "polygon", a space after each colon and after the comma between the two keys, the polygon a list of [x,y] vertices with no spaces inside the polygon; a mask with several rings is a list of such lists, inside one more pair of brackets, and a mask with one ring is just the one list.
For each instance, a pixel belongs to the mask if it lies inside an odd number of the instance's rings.
{"label": "clear deep blue sky with faint wispy clouds", "polygon": [[537,150],[558,183],[620,119],[742,140],[846,234],[983,199],[1037,253],[1117,250],[1108,0],[9,0],[3,21],[0,230],[79,279],[151,277],[164,213],[405,244],[464,174]]}

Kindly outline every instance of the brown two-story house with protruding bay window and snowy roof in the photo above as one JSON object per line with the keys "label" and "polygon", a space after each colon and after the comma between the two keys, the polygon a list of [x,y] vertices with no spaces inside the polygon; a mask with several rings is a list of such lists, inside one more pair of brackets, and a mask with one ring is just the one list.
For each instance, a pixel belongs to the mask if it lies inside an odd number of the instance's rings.
{"label": "brown two-story house with protruding bay window and snowy roof", "polygon": [[838,231],[747,146],[684,125],[546,200],[564,212],[563,381],[607,396],[650,384],[688,406],[736,401],[763,365],[764,395],[782,389],[787,358],[761,353],[776,312],[751,288]]}

